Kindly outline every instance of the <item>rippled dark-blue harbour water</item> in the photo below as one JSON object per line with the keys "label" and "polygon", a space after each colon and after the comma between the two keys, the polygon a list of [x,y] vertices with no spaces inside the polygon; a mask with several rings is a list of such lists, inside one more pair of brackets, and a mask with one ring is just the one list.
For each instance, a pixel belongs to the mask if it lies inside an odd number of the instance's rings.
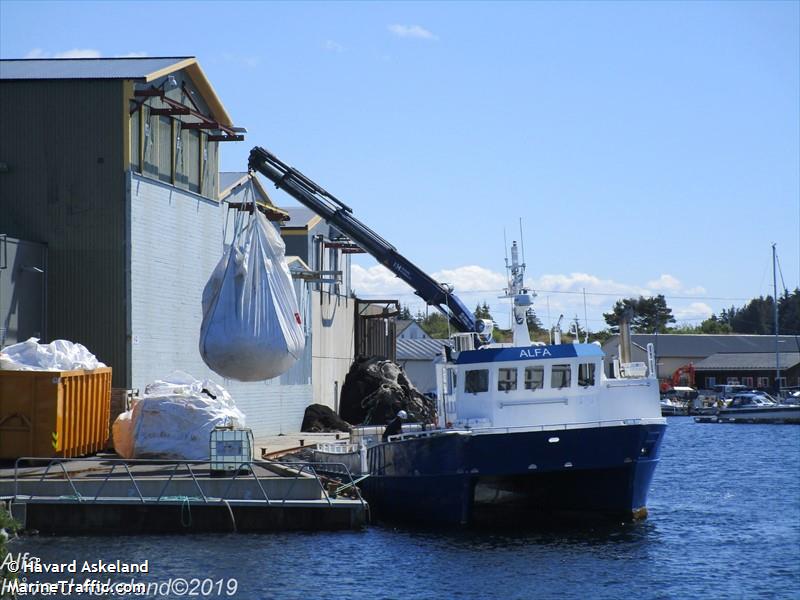
{"label": "rippled dark-blue harbour water", "polygon": [[671,418],[649,508],[588,529],[34,537],[13,551],[149,559],[139,581],[236,578],[244,600],[800,598],[800,427]]}

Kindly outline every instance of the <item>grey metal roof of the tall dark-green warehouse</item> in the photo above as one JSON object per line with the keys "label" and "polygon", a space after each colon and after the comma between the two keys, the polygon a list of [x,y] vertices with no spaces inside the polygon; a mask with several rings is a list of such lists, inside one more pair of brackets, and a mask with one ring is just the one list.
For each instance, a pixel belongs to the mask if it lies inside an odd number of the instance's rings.
{"label": "grey metal roof of the tall dark-green warehouse", "polygon": [[26,58],[0,60],[0,79],[147,79],[190,56],[152,58]]}

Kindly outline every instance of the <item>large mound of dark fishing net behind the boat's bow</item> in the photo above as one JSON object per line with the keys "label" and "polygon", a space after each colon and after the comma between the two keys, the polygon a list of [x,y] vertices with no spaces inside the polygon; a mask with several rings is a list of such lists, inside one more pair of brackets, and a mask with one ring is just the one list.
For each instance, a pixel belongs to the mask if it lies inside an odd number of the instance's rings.
{"label": "large mound of dark fishing net behind the boat's bow", "polygon": [[411,423],[436,421],[436,402],[417,391],[396,363],[356,358],[342,386],[339,416],[353,425],[385,425],[401,410]]}

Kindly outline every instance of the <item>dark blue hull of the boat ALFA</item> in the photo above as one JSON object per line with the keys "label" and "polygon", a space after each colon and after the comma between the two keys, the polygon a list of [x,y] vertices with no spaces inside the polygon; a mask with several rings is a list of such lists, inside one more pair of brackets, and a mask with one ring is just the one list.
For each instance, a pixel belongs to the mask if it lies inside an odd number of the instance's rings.
{"label": "dark blue hull of the boat ALFA", "polygon": [[425,525],[640,518],[665,427],[448,434],[379,444],[368,450],[364,495],[378,519]]}

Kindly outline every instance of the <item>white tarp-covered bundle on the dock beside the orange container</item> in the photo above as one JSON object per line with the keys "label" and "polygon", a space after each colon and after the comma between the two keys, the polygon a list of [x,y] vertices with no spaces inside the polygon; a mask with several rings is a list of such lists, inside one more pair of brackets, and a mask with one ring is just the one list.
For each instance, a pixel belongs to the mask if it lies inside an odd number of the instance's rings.
{"label": "white tarp-covered bundle on the dock beside the orange container", "polygon": [[207,460],[215,427],[244,424],[225,388],[175,371],[149,384],[131,410],[117,417],[112,437],[123,458]]}

